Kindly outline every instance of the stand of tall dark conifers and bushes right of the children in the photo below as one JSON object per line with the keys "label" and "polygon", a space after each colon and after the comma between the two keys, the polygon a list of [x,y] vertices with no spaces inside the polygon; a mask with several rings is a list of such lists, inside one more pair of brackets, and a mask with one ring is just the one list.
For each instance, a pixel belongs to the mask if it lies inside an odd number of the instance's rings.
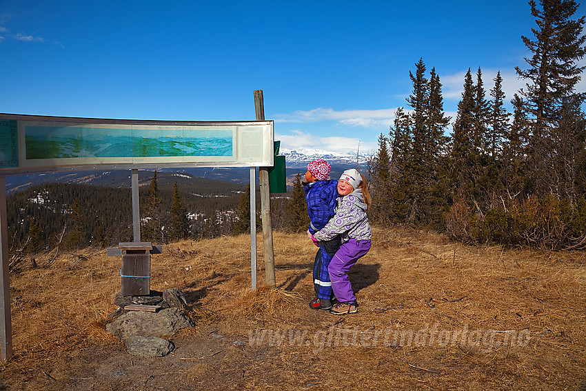
{"label": "stand of tall dark conifers and bushes right of the children", "polygon": [[467,243],[586,248],[585,18],[574,1],[529,4],[536,26],[522,37],[525,87],[513,97],[500,72],[487,83],[469,68],[451,119],[435,69],[415,64],[407,105],[369,162],[372,221]]}

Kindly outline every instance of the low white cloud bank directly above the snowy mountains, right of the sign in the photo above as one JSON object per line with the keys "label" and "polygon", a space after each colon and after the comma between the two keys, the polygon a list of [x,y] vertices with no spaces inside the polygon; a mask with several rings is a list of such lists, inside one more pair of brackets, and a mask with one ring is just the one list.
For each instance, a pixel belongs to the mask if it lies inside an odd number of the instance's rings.
{"label": "low white cloud bank directly above the snowy mountains, right of the sign", "polygon": [[355,152],[360,143],[361,152],[367,152],[377,148],[376,143],[364,142],[358,137],[318,137],[314,134],[291,130],[291,134],[278,134],[275,132],[274,139],[281,141],[281,146],[287,149],[319,149],[332,152]]}

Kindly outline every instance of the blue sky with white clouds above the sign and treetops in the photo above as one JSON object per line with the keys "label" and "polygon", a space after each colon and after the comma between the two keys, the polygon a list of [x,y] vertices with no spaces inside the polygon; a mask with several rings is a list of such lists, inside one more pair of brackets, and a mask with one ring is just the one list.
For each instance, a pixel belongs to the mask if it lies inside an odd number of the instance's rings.
{"label": "blue sky with white clouds above the sign and treetops", "polygon": [[281,148],[367,152],[420,57],[448,115],[468,68],[511,99],[534,26],[518,0],[0,0],[0,112],[239,121],[263,90]]}

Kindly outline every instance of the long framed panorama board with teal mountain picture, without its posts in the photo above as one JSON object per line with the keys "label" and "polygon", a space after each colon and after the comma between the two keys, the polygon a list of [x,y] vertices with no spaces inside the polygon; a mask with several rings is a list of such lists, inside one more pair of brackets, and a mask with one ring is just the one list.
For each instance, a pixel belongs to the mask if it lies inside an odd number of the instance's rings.
{"label": "long framed panorama board with teal mountain picture, without its posts", "polygon": [[272,166],[272,121],[139,121],[0,114],[0,174]]}

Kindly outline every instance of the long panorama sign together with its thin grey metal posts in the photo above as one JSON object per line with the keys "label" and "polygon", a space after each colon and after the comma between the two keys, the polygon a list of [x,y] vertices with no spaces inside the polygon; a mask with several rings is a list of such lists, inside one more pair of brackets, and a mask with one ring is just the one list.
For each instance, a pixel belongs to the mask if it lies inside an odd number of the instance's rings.
{"label": "long panorama sign together with its thin grey metal posts", "polygon": [[[0,358],[6,361],[12,357],[6,176],[130,169],[134,241],[140,241],[139,169],[250,167],[251,278],[252,290],[255,290],[254,173],[256,167],[274,164],[273,127],[273,121],[264,120],[148,121],[0,113]],[[216,137],[218,134],[220,136]],[[119,145],[110,148],[112,138],[116,137],[120,138]],[[171,147],[151,148],[165,137]],[[213,139],[212,152],[194,154],[193,147],[206,137]],[[220,152],[213,151],[214,146],[223,141],[228,143],[228,148],[221,148]],[[109,152],[104,152],[108,148]],[[155,156],[152,155],[153,150],[158,151]]]}

